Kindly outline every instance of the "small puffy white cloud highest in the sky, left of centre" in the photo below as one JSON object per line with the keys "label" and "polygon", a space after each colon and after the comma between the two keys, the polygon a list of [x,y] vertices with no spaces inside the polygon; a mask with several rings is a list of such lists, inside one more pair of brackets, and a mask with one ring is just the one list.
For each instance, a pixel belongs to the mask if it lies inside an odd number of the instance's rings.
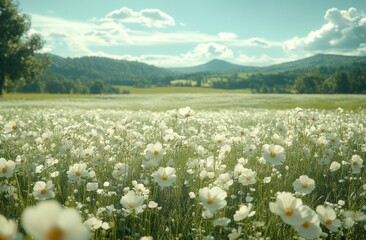
{"label": "small puffy white cloud highest in the sky, left of centre", "polygon": [[143,9],[137,12],[127,7],[123,7],[108,13],[104,20],[122,23],[138,23],[146,27],[157,28],[175,25],[174,19],[159,9]]}

